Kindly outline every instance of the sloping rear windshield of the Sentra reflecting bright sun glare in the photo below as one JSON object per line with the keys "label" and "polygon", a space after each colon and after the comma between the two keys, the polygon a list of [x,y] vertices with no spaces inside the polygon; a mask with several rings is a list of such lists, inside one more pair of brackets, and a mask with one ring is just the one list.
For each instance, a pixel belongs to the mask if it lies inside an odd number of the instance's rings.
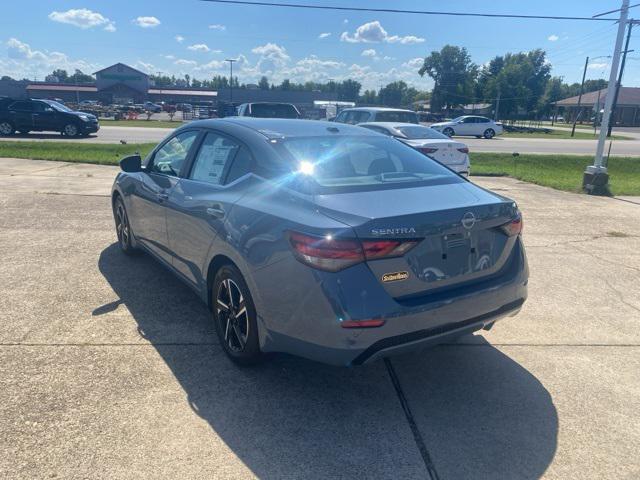
{"label": "sloping rear windshield of the Sentra reflecting bright sun glare", "polygon": [[438,162],[388,137],[292,138],[277,148],[291,162],[295,175],[320,193],[464,181]]}

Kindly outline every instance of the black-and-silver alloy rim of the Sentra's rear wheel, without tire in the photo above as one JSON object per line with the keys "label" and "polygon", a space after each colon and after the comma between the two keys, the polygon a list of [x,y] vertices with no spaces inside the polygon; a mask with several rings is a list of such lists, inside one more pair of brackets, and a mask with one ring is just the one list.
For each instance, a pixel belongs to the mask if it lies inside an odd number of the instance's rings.
{"label": "black-and-silver alloy rim of the Sentra's rear wheel, without tire", "polygon": [[240,287],[230,278],[220,282],[216,311],[227,346],[234,352],[242,352],[249,338],[249,312]]}

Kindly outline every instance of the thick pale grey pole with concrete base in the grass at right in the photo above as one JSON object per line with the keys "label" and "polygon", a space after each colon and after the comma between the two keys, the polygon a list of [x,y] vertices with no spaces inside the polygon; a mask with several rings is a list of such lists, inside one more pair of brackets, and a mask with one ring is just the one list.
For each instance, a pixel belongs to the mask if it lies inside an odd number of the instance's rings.
{"label": "thick pale grey pole with concrete base in the grass at right", "polygon": [[629,0],[622,0],[620,8],[620,19],[618,24],[618,35],[616,44],[613,49],[613,59],[611,60],[611,71],[609,72],[609,83],[607,87],[607,98],[604,102],[604,116],[602,125],[600,126],[600,135],[598,136],[598,147],[596,148],[596,156],[593,165],[588,166],[582,178],[582,187],[591,194],[607,194],[609,190],[609,174],[607,168],[602,164],[602,156],[604,153],[604,144],[607,140],[607,131],[609,129],[609,118],[611,117],[611,107],[613,106],[613,95],[611,87],[615,88],[616,74],[620,65],[620,50],[622,48],[622,40],[624,39],[624,30],[627,26],[627,16],[629,14]]}

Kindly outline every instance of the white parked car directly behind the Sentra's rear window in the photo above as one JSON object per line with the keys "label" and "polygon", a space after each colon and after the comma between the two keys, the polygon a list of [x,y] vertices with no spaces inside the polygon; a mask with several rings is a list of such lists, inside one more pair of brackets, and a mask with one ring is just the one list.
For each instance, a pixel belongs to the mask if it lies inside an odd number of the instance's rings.
{"label": "white parked car directly behind the Sentra's rear window", "polygon": [[460,175],[469,176],[471,171],[469,148],[464,143],[451,140],[432,128],[413,123],[394,122],[361,123],[358,126],[397,138]]}

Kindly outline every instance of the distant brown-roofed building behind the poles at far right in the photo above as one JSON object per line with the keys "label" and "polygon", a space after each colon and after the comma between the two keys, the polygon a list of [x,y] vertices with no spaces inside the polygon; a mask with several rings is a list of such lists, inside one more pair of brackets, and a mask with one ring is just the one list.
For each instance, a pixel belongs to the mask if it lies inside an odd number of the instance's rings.
{"label": "distant brown-roofed building behind the poles at far right", "polygon": [[[577,96],[558,100],[554,105],[565,121],[573,121],[578,117],[578,121],[589,122],[596,112],[604,108],[606,98],[607,89],[604,88],[582,94],[580,108]],[[613,124],[620,127],[640,126],[640,88],[620,87],[618,102],[613,112]]]}

